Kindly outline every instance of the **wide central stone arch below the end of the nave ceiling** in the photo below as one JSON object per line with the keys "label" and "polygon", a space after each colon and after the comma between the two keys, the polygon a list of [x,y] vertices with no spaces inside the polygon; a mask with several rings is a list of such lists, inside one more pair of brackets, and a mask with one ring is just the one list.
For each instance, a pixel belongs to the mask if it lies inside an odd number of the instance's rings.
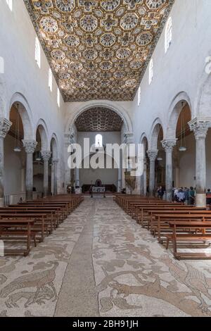
{"label": "wide central stone arch below the end of the nave ceiling", "polygon": [[75,111],[75,115],[72,119],[68,121],[68,125],[66,127],[66,132],[70,133],[72,132],[72,127],[75,123],[75,120],[78,118],[79,115],[84,113],[84,111],[88,111],[90,108],[97,108],[97,107],[104,107],[108,108],[111,111],[115,111],[120,117],[122,118],[124,125],[127,129],[127,132],[133,132],[133,125],[132,120],[129,118],[129,115],[124,110],[122,106],[115,106],[114,104],[102,101],[102,102],[88,102],[86,106],[81,106]]}

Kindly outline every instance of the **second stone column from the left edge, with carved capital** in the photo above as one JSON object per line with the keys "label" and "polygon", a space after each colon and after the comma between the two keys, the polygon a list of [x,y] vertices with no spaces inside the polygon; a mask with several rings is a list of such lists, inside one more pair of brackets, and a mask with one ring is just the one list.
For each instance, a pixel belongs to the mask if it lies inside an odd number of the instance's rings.
{"label": "second stone column from the left edge, with carved capital", "polygon": [[33,153],[37,146],[35,140],[23,140],[23,146],[25,147],[26,157],[26,177],[25,177],[25,189],[26,199],[33,199]]}

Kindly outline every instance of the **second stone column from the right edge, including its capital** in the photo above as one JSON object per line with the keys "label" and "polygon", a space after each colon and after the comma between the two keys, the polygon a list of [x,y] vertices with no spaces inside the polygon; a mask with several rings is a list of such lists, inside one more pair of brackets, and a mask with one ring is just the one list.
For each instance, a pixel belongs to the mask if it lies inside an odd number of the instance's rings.
{"label": "second stone column from the right edge, including its capital", "polygon": [[176,146],[177,139],[162,140],[162,147],[165,149],[165,192],[167,201],[172,201],[172,151]]}

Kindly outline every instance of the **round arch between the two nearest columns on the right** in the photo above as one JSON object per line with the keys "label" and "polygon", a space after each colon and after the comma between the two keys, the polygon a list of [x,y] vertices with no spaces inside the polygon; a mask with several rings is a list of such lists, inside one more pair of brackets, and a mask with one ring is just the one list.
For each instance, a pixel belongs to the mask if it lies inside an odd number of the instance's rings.
{"label": "round arch between the two nearest columns on the right", "polygon": [[186,94],[186,92],[180,92],[177,94],[177,96],[174,97],[170,105],[170,117],[168,120],[167,134],[166,137],[164,134],[164,139],[176,139],[177,122],[179,115],[184,108],[182,103],[188,104],[192,116],[191,99],[189,98],[188,94]]}

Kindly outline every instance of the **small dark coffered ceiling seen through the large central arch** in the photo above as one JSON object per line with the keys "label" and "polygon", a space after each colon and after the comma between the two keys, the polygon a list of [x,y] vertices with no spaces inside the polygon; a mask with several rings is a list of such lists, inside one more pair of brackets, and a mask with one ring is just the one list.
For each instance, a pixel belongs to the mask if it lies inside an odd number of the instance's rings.
{"label": "small dark coffered ceiling seen through the large central arch", "polygon": [[75,121],[79,132],[121,131],[122,124],[122,118],[115,111],[103,107],[90,108]]}

